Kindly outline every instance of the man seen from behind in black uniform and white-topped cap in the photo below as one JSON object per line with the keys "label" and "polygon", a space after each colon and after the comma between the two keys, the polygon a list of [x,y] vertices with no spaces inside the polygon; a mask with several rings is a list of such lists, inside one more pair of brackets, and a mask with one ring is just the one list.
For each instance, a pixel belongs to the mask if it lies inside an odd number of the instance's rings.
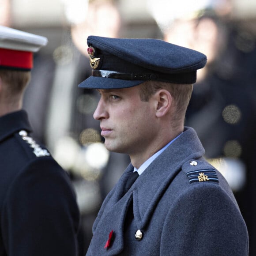
{"label": "man seen from behind in black uniform and white-topped cap", "polygon": [[0,256],[75,256],[79,210],[67,173],[30,137],[22,110],[47,39],[0,26]]}

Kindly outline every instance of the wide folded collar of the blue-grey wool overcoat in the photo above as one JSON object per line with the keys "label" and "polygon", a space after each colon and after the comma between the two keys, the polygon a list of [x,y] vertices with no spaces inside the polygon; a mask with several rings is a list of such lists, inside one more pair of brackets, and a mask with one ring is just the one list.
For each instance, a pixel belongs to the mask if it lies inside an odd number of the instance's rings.
{"label": "wide folded collar of the blue-grey wool overcoat", "polygon": [[139,229],[147,224],[163,192],[184,162],[200,158],[203,154],[204,149],[195,130],[185,127],[184,133],[147,167],[131,189],[133,211]]}

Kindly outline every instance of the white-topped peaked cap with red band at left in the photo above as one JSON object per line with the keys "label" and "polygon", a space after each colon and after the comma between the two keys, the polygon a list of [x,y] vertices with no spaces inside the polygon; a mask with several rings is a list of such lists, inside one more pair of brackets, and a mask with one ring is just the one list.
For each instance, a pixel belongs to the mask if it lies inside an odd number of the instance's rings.
{"label": "white-topped peaked cap with red band at left", "polygon": [[47,43],[45,37],[0,26],[0,68],[30,70],[33,53]]}

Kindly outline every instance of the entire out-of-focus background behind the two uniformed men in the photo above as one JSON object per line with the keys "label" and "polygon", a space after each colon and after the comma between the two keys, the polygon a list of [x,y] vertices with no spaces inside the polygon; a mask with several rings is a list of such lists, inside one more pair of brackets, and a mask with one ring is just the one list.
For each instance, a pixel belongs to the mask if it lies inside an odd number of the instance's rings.
{"label": "entire out-of-focus background behind the two uniformed men", "polygon": [[[158,38],[201,51],[185,125],[229,182],[256,255],[256,1],[0,0],[0,25],[48,38],[34,56],[24,98],[34,137],[68,172],[82,216],[80,255],[106,194],[129,163],[106,151],[92,117],[98,94],[77,85],[91,72],[87,36]],[[221,220],[220,220],[221,221]]]}

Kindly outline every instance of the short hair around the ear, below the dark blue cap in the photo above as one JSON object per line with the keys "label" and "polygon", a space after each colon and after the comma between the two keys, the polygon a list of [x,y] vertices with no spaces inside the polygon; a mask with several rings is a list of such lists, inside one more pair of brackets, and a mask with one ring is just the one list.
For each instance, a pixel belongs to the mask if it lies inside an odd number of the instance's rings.
{"label": "short hair around the ear, below the dark blue cap", "polygon": [[161,89],[168,90],[174,99],[176,111],[173,115],[173,128],[176,128],[175,126],[178,126],[180,122],[184,123],[185,114],[193,90],[193,85],[146,81],[142,83],[140,87],[139,96],[141,101],[148,102],[151,95],[155,94],[158,90]]}

